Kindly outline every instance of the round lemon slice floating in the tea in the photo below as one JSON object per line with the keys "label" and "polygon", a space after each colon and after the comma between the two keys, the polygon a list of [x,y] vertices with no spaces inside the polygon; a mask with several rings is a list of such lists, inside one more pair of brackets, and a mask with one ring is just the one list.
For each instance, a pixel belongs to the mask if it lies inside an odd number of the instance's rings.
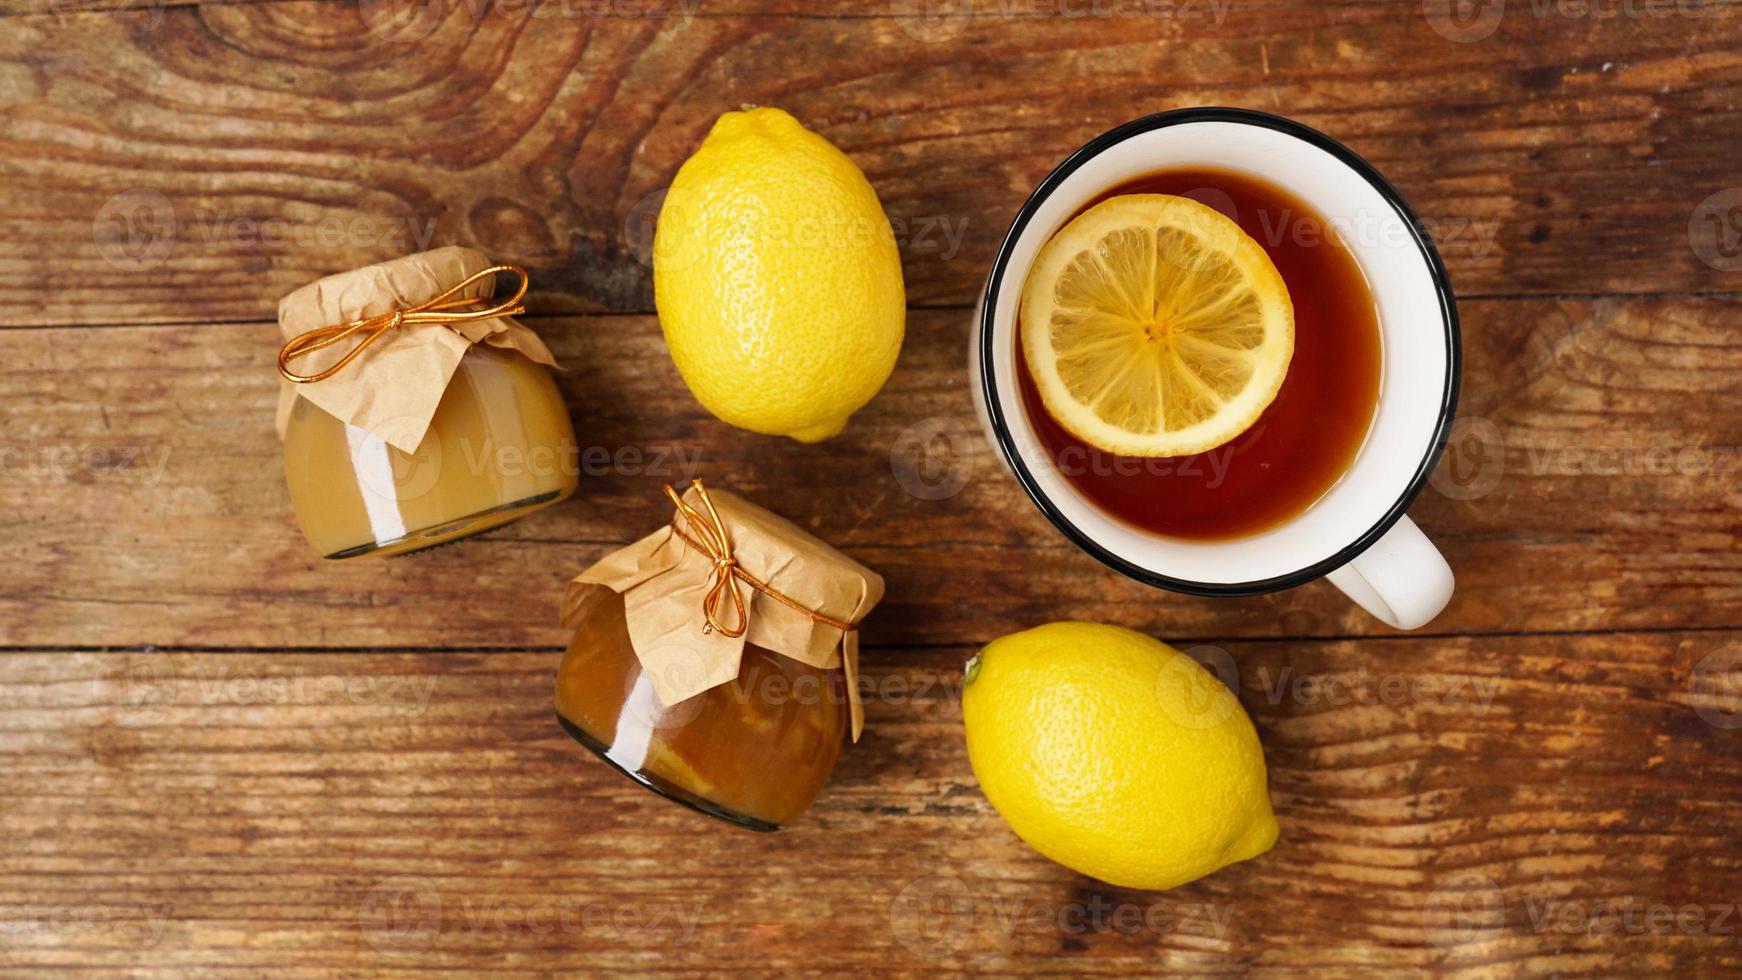
{"label": "round lemon slice floating in the tea", "polygon": [[1265,249],[1192,198],[1103,200],[1040,249],[1023,355],[1047,413],[1124,456],[1204,453],[1246,432],[1294,355],[1294,306]]}

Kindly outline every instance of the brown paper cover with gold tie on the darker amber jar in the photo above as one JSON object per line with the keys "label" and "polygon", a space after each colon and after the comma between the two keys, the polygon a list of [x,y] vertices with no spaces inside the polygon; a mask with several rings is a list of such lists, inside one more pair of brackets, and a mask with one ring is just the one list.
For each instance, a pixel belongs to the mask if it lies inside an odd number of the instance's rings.
{"label": "brown paper cover with gold tie on the darker amber jar", "polygon": [[622,594],[636,658],[665,705],[735,679],[746,642],[838,667],[857,742],[859,621],[883,599],[883,578],[737,494],[700,480],[665,493],[678,507],[671,524],[577,576],[563,621]]}

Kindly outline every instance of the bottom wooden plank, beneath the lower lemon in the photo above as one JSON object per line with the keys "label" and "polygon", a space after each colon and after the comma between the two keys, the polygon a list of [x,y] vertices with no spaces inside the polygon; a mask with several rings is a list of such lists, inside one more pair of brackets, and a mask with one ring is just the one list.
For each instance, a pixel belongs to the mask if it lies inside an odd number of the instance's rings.
{"label": "bottom wooden plank, beneath the lower lemon", "polygon": [[866,740],[772,837],[568,742],[552,653],[0,654],[0,966],[1742,968],[1742,634],[1221,649],[1282,841],[1169,893],[1005,829],[969,648],[869,653]]}

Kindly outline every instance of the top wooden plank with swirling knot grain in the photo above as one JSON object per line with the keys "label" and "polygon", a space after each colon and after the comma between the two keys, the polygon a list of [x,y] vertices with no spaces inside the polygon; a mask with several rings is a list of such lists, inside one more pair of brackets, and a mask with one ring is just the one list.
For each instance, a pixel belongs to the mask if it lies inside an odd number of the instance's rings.
{"label": "top wooden plank with swirling knot grain", "polygon": [[399,7],[10,19],[0,319],[263,319],[315,275],[425,242],[533,266],[544,310],[648,312],[634,242],[652,195],[739,103],[787,106],[854,155],[918,305],[972,301],[1017,204],[1071,148],[1204,103],[1347,139],[1418,205],[1469,296],[1735,289],[1690,244],[1702,202],[1742,183],[1728,3],[1531,5],[1477,44],[1395,3],[826,19],[512,3],[455,5],[415,42],[368,30]]}

